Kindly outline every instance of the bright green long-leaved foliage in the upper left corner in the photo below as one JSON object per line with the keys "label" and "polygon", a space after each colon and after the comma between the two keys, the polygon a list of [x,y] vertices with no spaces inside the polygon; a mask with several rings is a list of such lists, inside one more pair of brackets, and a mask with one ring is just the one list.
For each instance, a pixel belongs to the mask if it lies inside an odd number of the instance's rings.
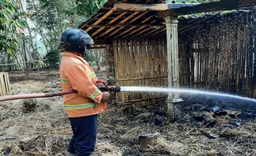
{"label": "bright green long-leaved foliage in the upper left corner", "polygon": [[23,33],[21,29],[26,21],[20,19],[24,12],[18,12],[18,3],[12,0],[0,1],[0,52],[10,53],[17,51],[19,44],[17,34]]}

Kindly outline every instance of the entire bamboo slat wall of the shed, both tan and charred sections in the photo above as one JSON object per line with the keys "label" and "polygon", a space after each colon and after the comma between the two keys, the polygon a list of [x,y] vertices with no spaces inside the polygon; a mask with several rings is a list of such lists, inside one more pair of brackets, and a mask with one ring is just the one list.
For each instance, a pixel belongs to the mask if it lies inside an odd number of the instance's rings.
{"label": "entire bamboo slat wall of the shed, both tan and charred sections", "polygon": [[[256,16],[239,11],[189,22],[178,32],[180,87],[256,97]],[[116,84],[167,87],[166,38],[114,40]],[[145,106],[167,94],[120,92],[118,104]]]}

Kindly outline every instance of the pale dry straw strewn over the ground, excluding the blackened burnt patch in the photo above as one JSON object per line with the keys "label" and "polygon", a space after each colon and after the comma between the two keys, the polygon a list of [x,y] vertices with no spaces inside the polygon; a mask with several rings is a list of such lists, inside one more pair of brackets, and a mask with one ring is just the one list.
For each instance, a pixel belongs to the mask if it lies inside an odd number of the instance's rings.
{"label": "pale dry straw strewn over the ground, excluding the blackened burnt patch", "polygon": [[[58,87],[56,87],[58,86]],[[59,91],[58,80],[21,81],[12,83],[13,94]],[[190,97],[194,99],[197,97]],[[194,103],[200,105],[200,103]],[[192,124],[192,112],[183,114],[177,122],[156,122],[164,112],[164,103],[151,107],[116,107],[113,103],[98,116],[97,145],[94,154],[100,156],[157,155],[254,155],[255,122],[239,122],[230,126],[228,116],[213,117],[204,112],[208,123]],[[199,113],[199,112],[198,112]],[[231,112],[230,112],[231,113]],[[236,112],[232,112],[236,113]],[[199,114],[200,115],[200,114]],[[183,122],[181,122],[183,121]],[[158,123],[158,124],[157,124]],[[65,155],[72,135],[69,119],[64,113],[61,97],[17,99],[0,103],[0,155]],[[232,124],[231,124],[232,125]],[[139,135],[147,131],[163,136],[154,147],[139,144]],[[209,134],[220,135],[211,137]]]}

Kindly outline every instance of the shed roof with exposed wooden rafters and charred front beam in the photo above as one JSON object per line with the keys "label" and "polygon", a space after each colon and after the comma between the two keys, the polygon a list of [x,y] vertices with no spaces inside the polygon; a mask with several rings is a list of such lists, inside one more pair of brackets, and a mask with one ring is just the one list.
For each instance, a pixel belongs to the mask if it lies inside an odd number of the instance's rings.
{"label": "shed roof with exposed wooden rafters and charred front beam", "polygon": [[[140,4],[141,2],[144,4]],[[115,39],[163,37],[166,35],[164,21],[166,16],[234,10],[254,5],[256,0],[222,0],[201,4],[163,3],[161,0],[109,0],[78,28],[88,32],[95,44],[109,44]],[[183,29],[181,26],[186,27],[179,25],[179,30]]]}

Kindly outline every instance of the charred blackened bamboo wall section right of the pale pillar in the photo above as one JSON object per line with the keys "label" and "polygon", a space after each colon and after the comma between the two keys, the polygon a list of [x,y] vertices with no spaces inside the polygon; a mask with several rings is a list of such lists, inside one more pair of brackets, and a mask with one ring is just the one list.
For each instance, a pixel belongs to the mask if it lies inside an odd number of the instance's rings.
{"label": "charred blackened bamboo wall section right of the pale pillar", "polygon": [[180,84],[256,97],[255,12],[236,12],[179,34]]}

